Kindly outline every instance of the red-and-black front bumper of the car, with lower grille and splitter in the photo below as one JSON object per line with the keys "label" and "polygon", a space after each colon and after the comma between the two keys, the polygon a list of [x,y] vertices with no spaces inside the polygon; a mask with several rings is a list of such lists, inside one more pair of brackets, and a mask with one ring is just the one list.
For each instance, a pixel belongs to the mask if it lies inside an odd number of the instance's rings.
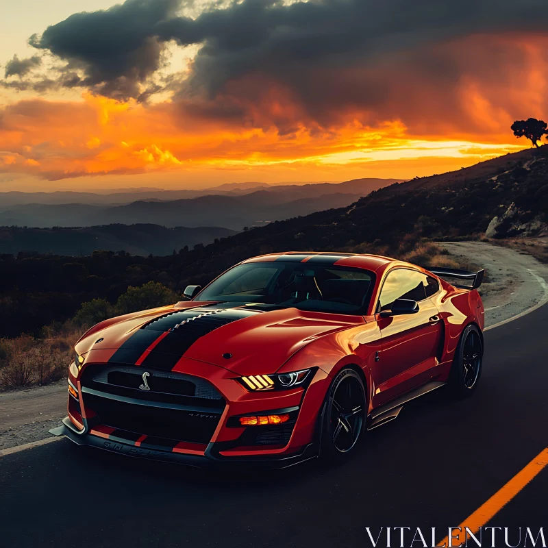
{"label": "red-and-black front bumper of the car, with lower grille and splitter", "polygon": [[[319,415],[329,386],[323,371],[316,371],[304,390],[256,394],[235,382],[234,373],[227,370],[194,360],[182,363],[184,368],[167,373],[173,377],[169,380],[171,388],[177,379],[190,379],[201,385],[203,393],[207,382],[223,399],[213,407],[208,404],[210,408],[203,408],[184,397],[166,399],[165,394],[153,390],[127,393],[116,388],[116,394],[107,393],[110,388],[104,384],[105,375],[101,373],[105,364],[94,364],[87,376],[85,370],[78,378],[69,375],[73,394],[69,396],[69,416],[51,433],[66,436],[77,445],[200,467],[256,464],[284,468],[318,454]],[[135,366],[112,367],[134,374]],[[110,371],[110,365],[108,368]],[[149,372],[149,382],[158,378],[158,371],[149,368]],[[97,384],[95,379],[102,379],[103,384]],[[235,416],[285,412],[295,412],[297,418],[286,425],[273,426],[237,427],[234,420],[231,422]],[[141,421],[148,423],[147,427]]]}

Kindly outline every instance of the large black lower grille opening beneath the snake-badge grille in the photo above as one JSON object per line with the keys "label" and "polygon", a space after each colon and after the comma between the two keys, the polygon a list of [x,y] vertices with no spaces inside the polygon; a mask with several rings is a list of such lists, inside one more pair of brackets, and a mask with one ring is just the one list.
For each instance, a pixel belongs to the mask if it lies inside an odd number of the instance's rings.
{"label": "large black lower grille opening beneath the snake-badge grille", "polygon": [[84,402],[105,426],[192,443],[209,443],[221,418],[220,413],[140,405],[90,393],[84,394]]}

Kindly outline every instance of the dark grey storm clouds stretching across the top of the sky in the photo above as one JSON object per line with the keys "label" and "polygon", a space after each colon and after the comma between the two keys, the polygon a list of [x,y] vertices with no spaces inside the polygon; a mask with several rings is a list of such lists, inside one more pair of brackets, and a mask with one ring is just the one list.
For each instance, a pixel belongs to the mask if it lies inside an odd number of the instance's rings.
{"label": "dark grey storm clouds stretching across the top of the sky", "polygon": [[[212,3],[195,19],[177,15],[184,5],[189,3],[126,0],[74,14],[30,43],[67,62],[58,85],[87,86],[120,99],[143,99],[162,88],[149,80],[166,42],[199,44],[188,78],[171,84],[180,95],[212,99],[238,77],[260,73],[321,110],[325,101],[375,103],[385,92],[379,82],[359,90],[328,82],[324,90],[323,77],[368,69],[383,55],[408,55],[475,33],[543,31],[548,23],[546,0],[243,0],[223,8]],[[456,70],[435,55],[424,62],[432,66],[421,70],[447,72],[447,78]],[[260,90],[238,92],[253,100]]]}

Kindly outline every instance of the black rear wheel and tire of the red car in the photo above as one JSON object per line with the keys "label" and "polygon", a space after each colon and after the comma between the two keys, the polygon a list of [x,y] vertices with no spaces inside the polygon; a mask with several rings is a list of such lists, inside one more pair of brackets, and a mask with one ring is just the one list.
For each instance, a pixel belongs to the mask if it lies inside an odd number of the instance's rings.
{"label": "black rear wheel and tire of the red car", "polygon": [[479,329],[467,325],[460,336],[449,373],[449,387],[458,398],[471,397],[482,375],[484,348]]}

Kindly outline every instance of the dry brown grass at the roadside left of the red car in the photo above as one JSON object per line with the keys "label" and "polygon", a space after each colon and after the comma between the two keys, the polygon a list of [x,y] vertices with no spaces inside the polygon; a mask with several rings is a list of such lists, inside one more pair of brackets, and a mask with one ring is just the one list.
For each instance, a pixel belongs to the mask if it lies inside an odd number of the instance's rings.
{"label": "dry brown grass at the roadside left of the red car", "polygon": [[76,334],[35,339],[22,335],[0,339],[0,388],[49,384],[66,375]]}

